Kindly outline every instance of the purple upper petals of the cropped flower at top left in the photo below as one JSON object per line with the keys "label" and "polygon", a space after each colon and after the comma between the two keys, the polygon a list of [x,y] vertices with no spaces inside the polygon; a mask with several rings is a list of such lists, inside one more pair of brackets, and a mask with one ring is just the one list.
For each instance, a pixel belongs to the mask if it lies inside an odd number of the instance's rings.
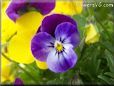
{"label": "purple upper petals of the cropped flower at top left", "polygon": [[55,7],[55,0],[12,0],[6,13],[10,19],[16,21],[20,16],[19,12],[27,11],[28,7],[34,7],[41,14],[48,14]]}

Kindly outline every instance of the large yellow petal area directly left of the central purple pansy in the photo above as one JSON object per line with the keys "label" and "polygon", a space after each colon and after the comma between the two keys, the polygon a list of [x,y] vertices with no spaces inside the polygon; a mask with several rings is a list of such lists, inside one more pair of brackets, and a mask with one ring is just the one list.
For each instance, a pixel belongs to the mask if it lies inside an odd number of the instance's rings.
{"label": "large yellow petal area directly left of the central purple pansy", "polygon": [[34,61],[31,53],[31,39],[38,30],[42,18],[38,12],[29,12],[17,19],[17,35],[11,39],[8,45],[10,59],[25,64]]}

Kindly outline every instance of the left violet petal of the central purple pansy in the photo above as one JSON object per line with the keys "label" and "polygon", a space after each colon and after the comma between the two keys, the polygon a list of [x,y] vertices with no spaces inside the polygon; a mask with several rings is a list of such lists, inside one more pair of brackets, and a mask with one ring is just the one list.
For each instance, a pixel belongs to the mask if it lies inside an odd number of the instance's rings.
{"label": "left violet petal of the central purple pansy", "polygon": [[54,38],[50,34],[46,32],[36,34],[31,42],[31,51],[34,57],[40,61],[46,61],[50,46],[52,46],[51,43],[54,43]]}

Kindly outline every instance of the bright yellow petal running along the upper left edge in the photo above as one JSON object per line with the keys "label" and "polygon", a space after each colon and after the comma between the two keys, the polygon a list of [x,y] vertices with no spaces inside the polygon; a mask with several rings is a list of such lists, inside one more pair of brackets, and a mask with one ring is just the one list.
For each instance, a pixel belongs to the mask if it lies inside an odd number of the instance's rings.
{"label": "bright yellow petal running along the upper left edge", "polygon": [[7,40],[16,32],[15,23],[9,19],[6,15],[5,10],[7,8],[8,2],[3,2],[2,4],[2,16],[1,16],[1,42],[5,44]]}

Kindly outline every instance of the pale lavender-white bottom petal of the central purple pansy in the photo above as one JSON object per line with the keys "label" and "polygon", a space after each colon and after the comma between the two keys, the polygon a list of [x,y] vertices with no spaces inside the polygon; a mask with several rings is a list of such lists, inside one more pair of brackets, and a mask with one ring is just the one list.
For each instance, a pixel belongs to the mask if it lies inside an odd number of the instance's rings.
{"label": "pale lavender-white bottom petal of the central purple pansy", "polygon": [[77,55],[72,49],[66,50],[66,52],[56,54],[56,50],[53,49],[47,58],[48,68],[53,72],[65,72],[68,69],[74,67],[77,62]]}

